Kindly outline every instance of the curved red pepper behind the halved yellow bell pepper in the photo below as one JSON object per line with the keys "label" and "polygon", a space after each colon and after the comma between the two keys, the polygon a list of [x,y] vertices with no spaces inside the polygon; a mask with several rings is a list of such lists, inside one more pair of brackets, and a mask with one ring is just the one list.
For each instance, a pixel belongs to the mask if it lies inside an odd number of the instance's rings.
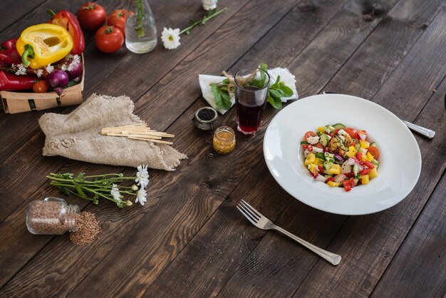
{"label": "curved red pepper behind the halved yellow bell pepper", "polygon": [[85,48],[85,39],[83,38],[83,32],[81,25],[76,16],[71,11],[59,11],[57,14],[53,10],[48,10],[52,18],[48,21],[50,24],[55,24],[65,28],[73,37],[73,49],[72,54],[81,55]]}

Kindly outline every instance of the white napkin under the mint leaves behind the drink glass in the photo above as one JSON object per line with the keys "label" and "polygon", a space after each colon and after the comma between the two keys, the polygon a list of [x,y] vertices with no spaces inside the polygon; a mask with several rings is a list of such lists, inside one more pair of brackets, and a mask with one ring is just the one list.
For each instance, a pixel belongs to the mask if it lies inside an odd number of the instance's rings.
{"label": "white napkin under the mint leaves behind the drink glass", "polygon": [[[269,74],[269,84],[272,85],[276,82],[276,79],[278,76],[280,76],[280,81],[285,83],[285,86],[291,88],[293,91],[293,96],[287,97],[287,98],[281,98],[282,103],[286,103],[286,101],[298,99],[299,93],[297,93],[296,90],[296,77],[289,71],[288,68],[271,68],[268,70]],[[227,111],[225,111],[222,108],[219,108],[217,106],[217,103],[215,103],[214,94],[211,90],[211,84],[212,83],[222,83],[222,81],[225,79],[225,76],[209,76],[209,75],[198,75],[198,82],[199,87],[202,89],[202,95],[203,98],[209,103],[212,108],[217,110],[219,113],[224,114]],[[231,97],[231,106],[234,106],[235,98],[234,93],[229,93],[229,96]],[[229,110],[228,110],[229,111]]]}

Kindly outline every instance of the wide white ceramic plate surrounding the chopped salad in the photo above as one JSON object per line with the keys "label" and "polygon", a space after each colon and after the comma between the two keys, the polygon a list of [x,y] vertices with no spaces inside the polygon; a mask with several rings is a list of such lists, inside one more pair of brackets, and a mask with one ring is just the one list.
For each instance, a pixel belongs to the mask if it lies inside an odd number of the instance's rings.
{"label": "wide white ceramic plate surrounding the chopped salad", "polygon": [[[343,123],[367,130],[380,150],[378,177],[346,192],[313,180],[300,145],[308,130]],[[364,215],[385,210],[413,190],[421,171],[418,143],[393,113],[355,96],[325,94],[302,98],[280,111],[266,129],[264,157],[269,171],[290,195],[326,212]]]}

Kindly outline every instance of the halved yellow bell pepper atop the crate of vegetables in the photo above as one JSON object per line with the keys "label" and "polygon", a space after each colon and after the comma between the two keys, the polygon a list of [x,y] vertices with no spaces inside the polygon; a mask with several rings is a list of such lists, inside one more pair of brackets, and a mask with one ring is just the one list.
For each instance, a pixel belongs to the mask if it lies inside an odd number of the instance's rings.
{"label": "halved yellow bell pepper atop the crate of vegetables", "polygon": [[24,66],[37,69],[67,56],[73,48],[73,38],[61,26],[39,24],[21,33],[16,48]]}

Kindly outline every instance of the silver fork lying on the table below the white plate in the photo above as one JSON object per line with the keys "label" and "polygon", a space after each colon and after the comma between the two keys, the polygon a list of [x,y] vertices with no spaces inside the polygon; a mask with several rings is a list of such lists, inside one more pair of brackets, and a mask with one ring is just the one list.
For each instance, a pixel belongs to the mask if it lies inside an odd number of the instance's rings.
{"label": "silver fork lying on the table below the white plate", "polygon": [[327,252],[326,250],[321,249],[321,247],[317,247],[316,245],[312,245],[311,243],[306,242],[305,240],[302,240],[299,237],[296,237],[295,235],[291,234],[287,230],[282,229],[281,227],[274,225],[271,220],[264,217],[264,215],[261,215],[261,213],[254,209],[251,205],[249,205],[244,200],[241,200],[239,204],[237,205],[237,209],[242,212],[242,215],[244,217],[247,217],[247,219],[251,222],[251,224],[255,225],[261,230],[277,230],[281,232],[282,234],[290,237],[292,240],[295,240],[296,242],[300,243],[301,245],[304,245],[304,247],[308,248],[308,250],[311,250],[316,255],[319,255],[324,260],[327,260],[333,265],[339,264],[341,262],[341,256],[333,254],[332,252]]}

